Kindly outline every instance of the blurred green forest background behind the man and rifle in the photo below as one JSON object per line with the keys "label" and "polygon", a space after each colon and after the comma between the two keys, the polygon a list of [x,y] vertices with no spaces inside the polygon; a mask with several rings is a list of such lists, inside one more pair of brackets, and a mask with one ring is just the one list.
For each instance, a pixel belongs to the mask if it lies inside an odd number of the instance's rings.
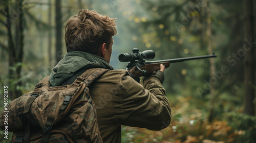
{"label": "blurred green forest background behind the man and rifle", "polygon": [[[154,50],[154,60],[218,57],[165,69],[172,121],[161,131],[122,127],[122,142],[256,142],[255,9],[252,0],[0,1],[0,109],[33,90],[66,52],[65,24],[79,9],[117,18],[110,64]],[[168,123],[163,123],[168,124]],[[0,141],[5,139],[0,131]]]}

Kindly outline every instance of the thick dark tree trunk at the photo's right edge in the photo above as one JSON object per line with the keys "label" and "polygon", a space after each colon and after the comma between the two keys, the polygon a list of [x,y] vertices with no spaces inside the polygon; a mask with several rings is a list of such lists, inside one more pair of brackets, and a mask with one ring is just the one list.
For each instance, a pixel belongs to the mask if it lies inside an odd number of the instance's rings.
{"label": "thick dark tree trunk at the photo's right edge", "polygon": [[[253,0],[244,1],[244,39],[246,41],[254,41],[254,28],[253,28]],[[246,48],[244,48],[244,111],[243,113],[254,115],[254,96],[255,90],[253,85],[255,85],[255,59],[254,59],[254,47],[247,43]]]}

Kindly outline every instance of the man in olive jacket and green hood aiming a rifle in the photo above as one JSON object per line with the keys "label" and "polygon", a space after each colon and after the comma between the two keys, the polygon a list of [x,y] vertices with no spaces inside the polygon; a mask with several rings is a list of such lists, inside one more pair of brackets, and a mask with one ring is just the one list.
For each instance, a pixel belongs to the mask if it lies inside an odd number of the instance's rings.
{"label": "man in olive jacket and green hood aiming a rifle", "polygon": [[103,142],[121,142],[121,125],[161,130],[170,123],[170,105],[161,85],[162,64],[155,75],[144,79],[144,87],[128,71],[114,70],[109,64],[115,25],[114,18],[87,9],[71,17],[65,34],[68,54],[50,76],[50,84],[60,86],[72,84],[89,68],[110,69],[89,86]]}

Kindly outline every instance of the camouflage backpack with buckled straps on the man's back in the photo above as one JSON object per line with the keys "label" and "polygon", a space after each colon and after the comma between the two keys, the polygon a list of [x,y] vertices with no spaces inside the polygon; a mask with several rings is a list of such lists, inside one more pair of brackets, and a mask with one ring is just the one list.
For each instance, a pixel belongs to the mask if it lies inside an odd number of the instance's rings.
{"label": "camouflage backpack with buckled straps on the man's back", "polygon": [[[50,87],[49,76],[8,105],[12,142],[103,142],[88,86],[109,69],[91,68],[73,84]],[[4,112],[0,127],[4,130]]]}

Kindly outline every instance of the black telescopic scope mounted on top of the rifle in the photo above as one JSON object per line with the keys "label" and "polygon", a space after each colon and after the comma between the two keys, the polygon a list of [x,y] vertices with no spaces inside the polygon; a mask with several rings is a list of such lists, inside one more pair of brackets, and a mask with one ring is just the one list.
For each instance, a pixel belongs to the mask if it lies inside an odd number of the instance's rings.
{"label": "black telescopic scope mounted on top of the rifle", "polygon": [[125,53],[119,55],[118,59],[120,62],[130,62],[135,60],[151,60],[155,58],[155,52],[153,50],[146,50],[139,53],[139,49],[133,49],[133,53]]}

